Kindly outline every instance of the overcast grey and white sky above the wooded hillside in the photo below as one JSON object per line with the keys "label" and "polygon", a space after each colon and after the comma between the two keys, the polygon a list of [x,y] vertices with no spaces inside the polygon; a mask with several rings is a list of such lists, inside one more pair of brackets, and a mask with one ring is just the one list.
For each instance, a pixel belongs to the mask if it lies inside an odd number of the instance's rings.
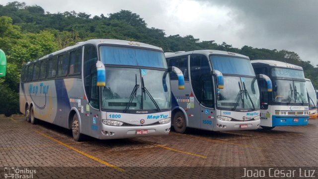
{"label": "overcast grey and white sky above the wooded hillside", "polygon": [[[0,0],[0,4],[14,0]],[[131,10],[166,35],[226,42],[233,47],[286,49],[318,64],[318,0],[18,0],[51,13],[105,16]],[[91,16],[91,17],[92,17]]]}

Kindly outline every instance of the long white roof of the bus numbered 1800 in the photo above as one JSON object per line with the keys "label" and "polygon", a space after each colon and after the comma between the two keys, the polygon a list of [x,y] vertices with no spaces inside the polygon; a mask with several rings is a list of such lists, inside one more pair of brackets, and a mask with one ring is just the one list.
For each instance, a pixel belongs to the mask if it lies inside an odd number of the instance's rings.
{"label": "long white roof of the bus numbered 1800", "polygon": [[69,46],[69,47],[61,49],[59,51],[53,52],[51,54],[48,54],[48,55],[46,55],[44,57],[39,58],[38,60],[35,60],[35,61],[32,61],[32,62],[28,62],[25,65],[28,65],[30,63],[33,63],[33,62],[36,62],[36,61],[39,61],[39,60],[42,60],[42,59],[46,59],[46,58],[52,57],[54,55],[61,54],[63,52],[70,51],[72,49],[75,49],[77,47],[81,47],[81,46],[86,45],[86,44],[92,44],[92,45],[96,45],[96,46],[99,45],[99,44],[134,46],[134,47],[143,47],[143,48],[159,50],[159,51],[163,52],[162,48],[160,48],[160,47],[157,47],[157,46],[154,46],[154,45],[145,44],[145,43],[140,43],[140,42],[126,41],[126,40],[114,40],[114,39],[91,39],[91,40],[87,40],[87,41],[84,41],[84,42],[78,42],[78,43],[76,43],[73,46]]}

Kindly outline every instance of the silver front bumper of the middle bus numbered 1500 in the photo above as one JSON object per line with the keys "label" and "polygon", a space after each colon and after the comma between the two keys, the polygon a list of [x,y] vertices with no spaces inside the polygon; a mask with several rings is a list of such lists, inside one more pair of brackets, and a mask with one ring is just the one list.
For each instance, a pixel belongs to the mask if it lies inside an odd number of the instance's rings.
{"label": "silver front bumper of the middle bus numbered 1500", "polygon": [[224,121],[216,119],[213,130],[214,131],[231,131],[231,130],[255,130],[258,129],[260,119],[250,121]]}

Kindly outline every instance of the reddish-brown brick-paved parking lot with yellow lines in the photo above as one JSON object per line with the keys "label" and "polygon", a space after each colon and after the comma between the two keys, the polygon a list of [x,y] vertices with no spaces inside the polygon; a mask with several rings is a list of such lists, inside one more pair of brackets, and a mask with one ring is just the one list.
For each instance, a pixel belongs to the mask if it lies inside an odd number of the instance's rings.
{"label": "reddish-brown brick-paved parking lot with yellow lines", "polygon": [[186,134],[75,142],[71,131],[58,126],[0,116],[0,174],[4,167],[18,167],[36,170],[34,178],[240,178],[233,173],[243,167],[318,166],[317,129],[316,119],[308,126],[271,131],[192,129]]}

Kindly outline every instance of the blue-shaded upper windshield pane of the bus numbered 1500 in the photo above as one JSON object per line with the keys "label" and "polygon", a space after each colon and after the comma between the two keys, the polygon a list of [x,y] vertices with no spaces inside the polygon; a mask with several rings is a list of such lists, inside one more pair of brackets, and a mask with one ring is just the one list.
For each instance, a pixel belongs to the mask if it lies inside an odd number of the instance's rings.
{"label": "blue-shaded upper windshield pane of the bus numbered 1500", "polygon": [[222,74],[255,76],[253,67],[248,59],[230,56],[211,55],[213,69]]}

